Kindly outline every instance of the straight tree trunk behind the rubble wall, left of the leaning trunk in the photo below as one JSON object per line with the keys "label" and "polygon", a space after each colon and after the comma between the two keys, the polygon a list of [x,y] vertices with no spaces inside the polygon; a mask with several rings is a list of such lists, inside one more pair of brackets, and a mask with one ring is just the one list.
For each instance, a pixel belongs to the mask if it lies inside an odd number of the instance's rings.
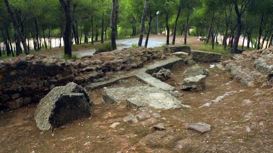
{"label": "straight tree trunk behind the rubble wall, left of the leaning trunk", "polygon": [[111,49],[117,49],[116,45],[116,32],[118,23],[119,1],[113,0],[112,12],[111,12]]}

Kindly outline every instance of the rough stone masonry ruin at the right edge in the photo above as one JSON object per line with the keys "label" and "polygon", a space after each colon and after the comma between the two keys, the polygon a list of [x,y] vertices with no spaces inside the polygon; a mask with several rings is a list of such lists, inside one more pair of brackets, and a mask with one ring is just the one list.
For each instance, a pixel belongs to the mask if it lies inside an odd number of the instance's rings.
{"label": "rough stone masonry ruin at the right edge", "polygon": [[273,46],[267,49],[231,54],[231,59],[222,62],[226,72],[234,79],[250,87],[273,87]]}

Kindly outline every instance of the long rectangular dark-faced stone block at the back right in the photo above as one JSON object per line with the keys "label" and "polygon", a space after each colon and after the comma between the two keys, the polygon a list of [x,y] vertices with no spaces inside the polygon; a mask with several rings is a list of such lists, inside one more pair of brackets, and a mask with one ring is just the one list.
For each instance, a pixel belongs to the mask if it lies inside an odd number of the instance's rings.
{"label": "long rectangular dark-faced stone block at the back right", "polygon": [[222,55],[219,53],[192,50],[191,56],[195,62],[220,62]]}

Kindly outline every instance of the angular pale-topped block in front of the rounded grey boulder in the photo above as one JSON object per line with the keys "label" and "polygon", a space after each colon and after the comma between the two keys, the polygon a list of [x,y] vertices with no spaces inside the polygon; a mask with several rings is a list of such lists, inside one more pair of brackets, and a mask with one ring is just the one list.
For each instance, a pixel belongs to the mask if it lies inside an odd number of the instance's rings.
{"label": "angular pale-topped block in front of the rounded grey boulder", "polygon": [[180,85],[181,90],[199,91],[206,86],[206,75],[196,75],[185,78]]}

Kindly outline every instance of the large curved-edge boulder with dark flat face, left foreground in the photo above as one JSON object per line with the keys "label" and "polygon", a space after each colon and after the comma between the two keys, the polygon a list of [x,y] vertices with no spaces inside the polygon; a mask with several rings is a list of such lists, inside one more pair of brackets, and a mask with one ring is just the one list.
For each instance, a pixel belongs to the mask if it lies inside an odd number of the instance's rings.
{"label": "large curved-edge boulder with dark flat face, left foreground", "polygon": [[53,88],[37,105],[35,121],[40,130],[91,116],[94,105],[85,89],[76,83]]}

